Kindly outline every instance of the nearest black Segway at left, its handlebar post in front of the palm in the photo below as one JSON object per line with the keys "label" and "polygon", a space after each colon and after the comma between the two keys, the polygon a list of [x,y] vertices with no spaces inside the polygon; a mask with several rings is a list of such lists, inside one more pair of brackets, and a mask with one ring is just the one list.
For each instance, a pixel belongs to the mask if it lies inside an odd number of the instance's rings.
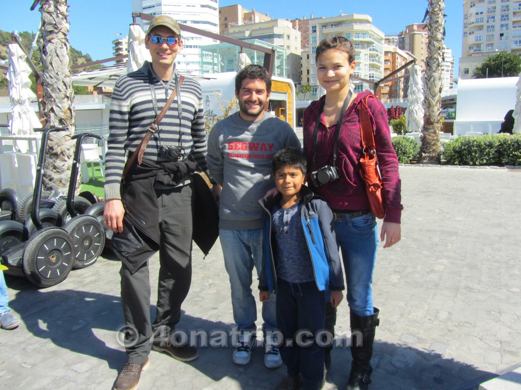
{"label": "nearest black Segway at left, its handlebar post in front of the palm", "polygon": [[0,255],[2,264],[8,268],[6,274],[26,276],[40,287],[51,287],[64,281],[73,264],[71,237],[66,230],[57,227],[61,225],[61,216],[52,209],[40,210],[39,207],[48,135],[64,130],[63,127],[38,130],[43,134],[36,167],[34,202],[29,216],[35,231],[28,231],[17,221],[0,222]]}

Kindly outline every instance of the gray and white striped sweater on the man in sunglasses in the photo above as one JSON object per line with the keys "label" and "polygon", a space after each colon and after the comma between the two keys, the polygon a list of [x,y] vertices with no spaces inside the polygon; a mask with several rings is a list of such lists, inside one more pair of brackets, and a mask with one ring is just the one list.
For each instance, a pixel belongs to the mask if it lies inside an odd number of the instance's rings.
{"label": "gray and white striped sweater on the man in sunglasses", "polygon": [[[152,103],[150,85],[154,86],[157,111],[165,106],[169,94],[176,86],[172,80],[166,94],[167,83],[159,80],[152,67],[145,62],[135,72],[119,77],[110,100],[108,149],[105,156],[105,199],[120,199],[120,182],[126,161],[126,152],[132,153],[139,146],[156,113]],[[182,114],[179,118],[177,97],[159,123],[159,130],[152,136],[143,155],[144,159],[160,161],[160,146],[179,146],[184,157],[191,153],[201,170],[206,167],[206,130],[204,127],[201,85],[185,77],[181,86]],[[181,124],[181,126],[179,126]]]}

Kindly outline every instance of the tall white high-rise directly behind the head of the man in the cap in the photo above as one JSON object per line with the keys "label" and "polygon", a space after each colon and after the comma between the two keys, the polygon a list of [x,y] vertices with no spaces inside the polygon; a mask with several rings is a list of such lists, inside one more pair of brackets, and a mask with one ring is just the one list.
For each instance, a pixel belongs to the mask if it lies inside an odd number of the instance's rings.
{"label": "tall white high-rise directly behind the head of the man in the cap", "polygon": [[[219,33],[218,0],[132,0],[132,10],[148,15],[170,15],[179,23],[197,29]],[[148,22],[142,22],[143,30]],[[211,57],[201,56],[201,46],[217,43],[212,38],[181,31],[183,50],[176,58],[177,69],[192,73],[202,73],[203,67],[210,65]]]}

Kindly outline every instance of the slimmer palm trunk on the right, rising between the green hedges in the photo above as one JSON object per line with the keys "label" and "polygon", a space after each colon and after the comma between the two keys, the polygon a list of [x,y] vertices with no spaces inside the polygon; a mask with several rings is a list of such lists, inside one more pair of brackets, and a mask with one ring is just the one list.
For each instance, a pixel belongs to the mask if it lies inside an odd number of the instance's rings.
{"label": "slimmer palm trunk on the right, rising between the green hedges", "polygon": [[440,155],[439,132],[441,128],[441,88],[442,56],[445,22],[443,0],[427,0],[429,13],[427,28],[429,44],[427,47],[424,125],[421,130],[420,159],[425,163],[438,163]]}

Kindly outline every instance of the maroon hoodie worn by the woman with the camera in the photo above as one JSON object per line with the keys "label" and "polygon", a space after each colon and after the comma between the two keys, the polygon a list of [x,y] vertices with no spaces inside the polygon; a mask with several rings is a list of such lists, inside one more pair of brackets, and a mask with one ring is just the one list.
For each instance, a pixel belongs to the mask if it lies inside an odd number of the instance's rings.
{"label": "maroon hoodie worn by the woman with the camera", "polygon": [[[365,90],[358,94],[344,113],[340,136],[337,144],[336,166],[340,171],[340,178],[319,187],[313,187],[314,192],[324,197],[333,210],[364,210],[369,209],[369,201],[365,183],[359,172],[362,168],[362,136],[360,134],[359,102],[369,95]],[[315,164],[313,155],[313,132],[318,111],[325,96],[315,100],[304,111],[304,154],[308,163],[308,172],[332,164],[334,146],[334,128],[326,126],[324,114],[320,115],[318,138],[316,145]],[[391,144],[391,133],[387,121],[387,110],[377,99],[368,99],[369,112],[376,125],[375,143],[380,174],[383,182],[383,203],[386,207],[384,222],[400,223],[403,206],[401,204],[401,183],[398,173],[398,158]]]}

